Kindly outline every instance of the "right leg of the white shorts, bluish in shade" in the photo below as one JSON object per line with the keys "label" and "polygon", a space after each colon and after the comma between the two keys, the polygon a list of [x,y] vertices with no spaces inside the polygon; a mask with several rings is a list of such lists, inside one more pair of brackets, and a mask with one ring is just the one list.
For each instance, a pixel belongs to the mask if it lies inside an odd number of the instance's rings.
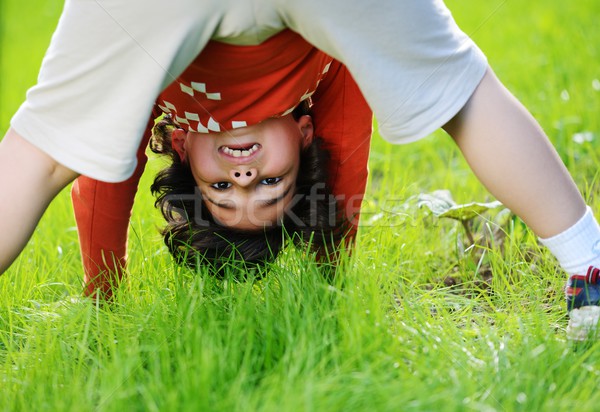
{"label": "right leg of the white shorts, bluish in shade", "polygon": [[441,0],[281,0],[279,7],[291,29],[348,67],[392,143],[447,123],[487,68]]}

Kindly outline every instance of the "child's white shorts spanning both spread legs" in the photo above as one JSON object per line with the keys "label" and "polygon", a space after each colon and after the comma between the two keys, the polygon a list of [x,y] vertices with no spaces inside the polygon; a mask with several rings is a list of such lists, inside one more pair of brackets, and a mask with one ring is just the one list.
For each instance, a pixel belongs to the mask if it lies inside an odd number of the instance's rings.
{"label": "child's white shorts spanning both spread legs", "polygon": [[58,162],[127,179],[152,105],[210,39],[285,27],[344,63],[393,143],[450,120],[487,68],[439,0],[68,0],[12,127]]}

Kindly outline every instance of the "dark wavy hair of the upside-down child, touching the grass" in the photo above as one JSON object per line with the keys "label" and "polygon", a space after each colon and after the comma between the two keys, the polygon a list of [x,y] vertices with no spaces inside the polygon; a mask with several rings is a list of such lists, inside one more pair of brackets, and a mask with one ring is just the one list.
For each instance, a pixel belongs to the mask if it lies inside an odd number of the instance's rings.
{"label": "dark wavy hair of the upside-down child, touching the grass", "polygon": [[[308,102],[292,113],[296,120],[305,114],[310,114]],[[171,132],[176,127],[169,116],[164,116],[155,125],[150,141],[153,152],[170,159],[151,190],[167,221],[162,234],[176,262],[191,267],[208,265],[223,275],[232,265],[241,266],[242,271],[264,266],[277,257],[286,240],[309,245],[321,255],[332,252],[341,229],[336,201],[327,184],[329,153],[322,139],[315,138],[300,153],[295,198],[283,220],[259,230],[240,230],[219,224],[205,207],[189,164],[171,147]]]}

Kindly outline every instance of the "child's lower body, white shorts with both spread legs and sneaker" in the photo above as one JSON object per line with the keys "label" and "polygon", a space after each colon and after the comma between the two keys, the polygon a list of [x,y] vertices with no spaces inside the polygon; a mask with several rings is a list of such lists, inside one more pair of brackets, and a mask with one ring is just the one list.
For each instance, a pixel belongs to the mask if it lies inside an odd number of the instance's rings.
{"label": "child's lower body, white shorts with both spread legs and sneaker", "polygon": [[[570,275],[600,266],[600,228],[566,168],[441,1],[175,0],[165,8],[105,0],[66,3],[40,82],[0,144],[0,270],[76,172],[105,181],[133,172],[140,138],[132,136],[210,39],[256,44],[286,27],[348,68],[386,139],[408,142],[443,127]],[[123,127],[106,136],[100,119]],[[11,202],[15,194],[25,202]],[[569,309],[598,303],[587,299],[598,287],[594,273],[571,278]]]}

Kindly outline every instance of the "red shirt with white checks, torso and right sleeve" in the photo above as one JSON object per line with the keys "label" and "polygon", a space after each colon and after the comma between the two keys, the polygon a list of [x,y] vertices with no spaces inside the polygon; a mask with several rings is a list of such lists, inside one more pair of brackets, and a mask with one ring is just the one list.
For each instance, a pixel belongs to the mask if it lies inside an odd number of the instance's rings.
{"label": "red shirt with white checks, torso and right sleeve", "polygon": [[330,152],[329,184],[352,236],[367,184],[372,112],[346,67],[298,34],[284,30],[255,46],[209,42],[156,107],[185,130],[210,133],[283,116],[309,97],[315,134]]}

